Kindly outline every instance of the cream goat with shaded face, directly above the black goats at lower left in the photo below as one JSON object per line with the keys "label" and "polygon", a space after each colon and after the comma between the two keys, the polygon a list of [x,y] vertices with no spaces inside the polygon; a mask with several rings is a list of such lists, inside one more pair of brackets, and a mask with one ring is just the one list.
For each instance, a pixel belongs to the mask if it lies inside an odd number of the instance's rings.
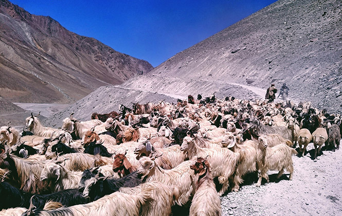
{"label": "cream goat with shaded face, directly above the black goats at lower left", "polygon": [[47,161],[42,170],[40,181],[48,182],[52,191],[78,188],[82,172],[65,169],[60,161]]}

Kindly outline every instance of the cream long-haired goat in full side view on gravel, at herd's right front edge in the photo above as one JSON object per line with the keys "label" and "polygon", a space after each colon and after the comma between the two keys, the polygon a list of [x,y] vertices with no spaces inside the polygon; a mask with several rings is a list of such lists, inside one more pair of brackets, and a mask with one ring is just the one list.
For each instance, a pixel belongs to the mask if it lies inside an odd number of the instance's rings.
{"label": "cream long-haired goat in full side view on gravel, at herd's right front edge", "polygon": [[278,170],[277,178],[280,178],[284,173],[284,169],[286,169],[290,172],[289,179],[292,180],[292,155],[294,154],[298,154],[297,151],[283,143],[274,147],[268,147],[267,140],[260,137],[257,148],[257,166],[260,174],[256,186],[260,187],[262,178],[265,178],[267,183],[269,182],[266,173],[268,170]]}

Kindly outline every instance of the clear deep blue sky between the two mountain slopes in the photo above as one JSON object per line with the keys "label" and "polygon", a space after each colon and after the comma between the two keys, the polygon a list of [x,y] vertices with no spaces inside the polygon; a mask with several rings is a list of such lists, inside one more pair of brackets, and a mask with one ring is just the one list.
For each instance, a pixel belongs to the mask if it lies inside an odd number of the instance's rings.
{"label": "clear deep blue sky between the two mountain slopes", "polygon": [[275,0],[10,0],[154,67]]}

